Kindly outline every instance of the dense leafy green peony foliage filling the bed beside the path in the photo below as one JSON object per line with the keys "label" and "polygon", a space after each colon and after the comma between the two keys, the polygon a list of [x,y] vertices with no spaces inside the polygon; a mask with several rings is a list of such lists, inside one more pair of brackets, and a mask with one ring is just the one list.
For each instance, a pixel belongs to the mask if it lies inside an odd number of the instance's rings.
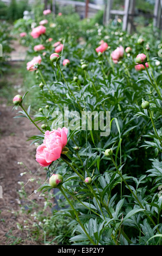
{"label": "dense leafy green peony foliage filling the bed beside the path", "polygon": [[[43,19],[39,17],[36,26]],[[32,143],[41,145],[46,131],[68,128],[66,149],[45,167],[48,178],[53,173],[63,176],[58,194],[65,199],[61,199],[61,209],[53,216],[71,219],[72,234],[67,229],[65,233],[72,245],[161,245],[162,74],[156,31],[150,27],[149,34],[129,35],[121,31],[120,24],[104,27],[96,23],[91,27],[91,21],[81,22],[76,15],[57,16],[53,21],[49,14],[46,19],[45,33],[34,39],[29,29],[27,37],[27,62],[41,57],[41,62],[28,71],[29,76],[35,75],[34,88],[40,98],[35,119],[30,118],[33,97],[28,110],[23,107],[26,95],[16,108],[22,108],[18,111],[20,117],[29,118],[36,127],[42,125],[38,127],[40,134],[29,138]],[[138,43],[139,38],[144,38],[144,44]],[[101,40],[109,46],[102,54],[96,52]],[[51,62],[57,41],[64,48],[57,62]],[[45,48],[35,52],[34,46],[40,44]],[[123,56],[114,63],[111,53],[120,45]],[[127,47],[132,49],[130,53],[125,51]],[[147,56],[148,63],[141,71],[135,69],[139,53]],[[64,59],[70,64],[64,66]],[[144,101],[149,107],[141,106]],[[68,124],[61,120],[65,107],[73,114]],[[57,117],[55,111],[59,111]],[[82,113],[86,116],[85,130],[81,125],[76,127],[74,111],[79,113],[76,121],[82,121]],[[101,136],[102,129],[89,129],[87,111],[103,112],[104,121],[110,112],[108,136]],[[92,178],[91,184],[84,182],[86,177]],[[48,195],[52,187],[46,183],[39,190]]]}

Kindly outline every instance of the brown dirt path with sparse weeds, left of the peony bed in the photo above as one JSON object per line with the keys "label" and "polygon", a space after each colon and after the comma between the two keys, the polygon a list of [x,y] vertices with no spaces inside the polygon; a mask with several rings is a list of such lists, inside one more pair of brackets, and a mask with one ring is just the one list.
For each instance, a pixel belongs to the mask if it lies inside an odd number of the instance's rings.
{"label": "brown dirt path with sparse weeds, left of the peony bed", "polygon": [[[6,79],[8,78],[12,80],[12,77],[7,75]],[[14,82],[22,86],[23,78],[17,75]],[[23,200],[20,199],[18,191],[21,189],[19,182],[23,181],[26,184],[40,168],[35,161],[36,146],[30,145],[31,141],[27,141],[30,136],[38,134],[38,130],[27,118],[13,119],[17,111],[12,109],[13,106],[9,106],[7,100],[0,98],[0,186],[3,190],[3,198],[0,198],[0,245],[17,244],[16,241],[20,241],[20,245],[39,245],[41,238],[37,241],[32,240],[28,230],[18,228],[18,225],[23,227],[27,220],[33,224],[32,218],[21,214]],[[18,162],[23,162],[29,170]],[[28,182],[25,187],[28,196],[39,187],[36,179],[41,179],[42,182],[46,180],[43,168],[36,174],[35,181]],[[44,198],[38,194],[34,193],[30,199],[40,207],[44,205]]]}

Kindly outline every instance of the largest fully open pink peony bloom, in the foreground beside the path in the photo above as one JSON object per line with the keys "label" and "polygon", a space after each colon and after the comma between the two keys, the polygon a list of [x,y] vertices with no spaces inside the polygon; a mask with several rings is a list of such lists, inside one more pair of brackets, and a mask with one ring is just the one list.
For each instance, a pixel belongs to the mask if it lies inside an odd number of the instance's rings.
{"label": "largest fully open pink peony bloom, in the foreground beside the path", "polygon": [[36,149],[36,161],[41,166],[48,166],[61,156],[61,151],[67,144],[67,128],[46,131],[43,143]]}

